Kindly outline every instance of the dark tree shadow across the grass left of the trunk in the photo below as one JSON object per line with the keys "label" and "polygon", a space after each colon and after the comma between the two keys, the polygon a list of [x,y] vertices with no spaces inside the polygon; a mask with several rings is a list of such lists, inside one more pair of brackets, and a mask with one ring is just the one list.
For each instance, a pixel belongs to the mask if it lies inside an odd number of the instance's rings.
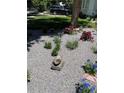
{"label": "dark tree shadow across the grass left of the trunk", "polygon": [[31,19],[28,20],[27,28],[43,30],[47,30],[50,28],[62,29],[69,24],[70,21],[64,18]]}

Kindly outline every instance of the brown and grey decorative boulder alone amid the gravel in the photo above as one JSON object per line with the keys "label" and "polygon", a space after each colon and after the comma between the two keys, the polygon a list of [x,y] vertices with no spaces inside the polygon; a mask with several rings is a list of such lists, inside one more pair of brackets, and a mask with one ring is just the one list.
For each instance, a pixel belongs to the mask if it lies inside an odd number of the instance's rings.
{"label": "brown and grey decorative boulder alone amid the gravel", "polygon": [[58,55],[58,56],[53,60],[51,69],[52,69],[52,70],[58,70],[58,71],[60,71],[63,66],[64,66],[64,62],[62,61],[61,56]]}

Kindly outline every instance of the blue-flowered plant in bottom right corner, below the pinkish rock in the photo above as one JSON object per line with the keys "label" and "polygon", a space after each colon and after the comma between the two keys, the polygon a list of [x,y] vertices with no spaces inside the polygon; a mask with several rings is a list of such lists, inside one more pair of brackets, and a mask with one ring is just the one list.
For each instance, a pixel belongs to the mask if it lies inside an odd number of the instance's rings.
{"label": "blue-flowered plant in bottom right corner, below the pinkish rock", "polygon": [[77,93],[97,93],[96,90],[96,85],[83,78],[78,84]]}

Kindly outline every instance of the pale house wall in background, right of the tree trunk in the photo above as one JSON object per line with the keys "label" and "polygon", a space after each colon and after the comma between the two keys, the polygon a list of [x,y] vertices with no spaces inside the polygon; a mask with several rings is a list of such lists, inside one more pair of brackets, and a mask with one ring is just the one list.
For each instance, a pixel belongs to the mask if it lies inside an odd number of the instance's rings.
{"label": "pale house wall in background, right of the tree trunk", "polygon": [[82,0],[81,13],[87,16],[97,16],[97,0]]}

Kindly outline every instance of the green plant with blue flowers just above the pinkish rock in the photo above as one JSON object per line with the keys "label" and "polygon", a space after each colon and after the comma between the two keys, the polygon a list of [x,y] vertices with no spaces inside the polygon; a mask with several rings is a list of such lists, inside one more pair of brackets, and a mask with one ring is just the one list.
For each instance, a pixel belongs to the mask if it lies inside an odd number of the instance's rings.
{"label": "green plant with blue flowers just above the pinkish rock", "polygon": [[88,73],[90,75],[96,75],[97,73],[97,62],[92,63],[90,60],[88,60],[82,68],[84,69],[85,73]]}

